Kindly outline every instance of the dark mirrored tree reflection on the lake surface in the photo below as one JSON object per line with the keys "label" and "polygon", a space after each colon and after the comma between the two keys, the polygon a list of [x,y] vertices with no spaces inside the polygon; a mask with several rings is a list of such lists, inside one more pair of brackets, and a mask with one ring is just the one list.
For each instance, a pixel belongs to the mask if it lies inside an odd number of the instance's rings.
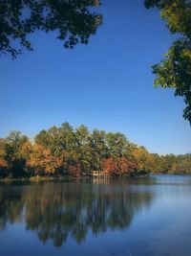
{"label": "dark mirrored tree reflection on the lake surface", "polygon": [[0,228],[7,222],[26,221],[42,242],[61,246],[68,236],[77,243],[107,228],[127,228],[135,214],[149,205],[150,192],[132,191],[128,180],[38,183],[1,187]]}

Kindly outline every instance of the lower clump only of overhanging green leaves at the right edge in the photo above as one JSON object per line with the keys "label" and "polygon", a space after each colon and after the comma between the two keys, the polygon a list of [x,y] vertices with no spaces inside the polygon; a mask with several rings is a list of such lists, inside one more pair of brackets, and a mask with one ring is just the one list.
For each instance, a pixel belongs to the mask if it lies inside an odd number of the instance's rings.
{"label": "lower clump only of overhanging green leaves at the right edge", "polygon": [[153,65],[155,85],[175,89],[175,96],[184,99],[183,117],[191,124],[191,41],[181,38],[173,43],[165,58]]}

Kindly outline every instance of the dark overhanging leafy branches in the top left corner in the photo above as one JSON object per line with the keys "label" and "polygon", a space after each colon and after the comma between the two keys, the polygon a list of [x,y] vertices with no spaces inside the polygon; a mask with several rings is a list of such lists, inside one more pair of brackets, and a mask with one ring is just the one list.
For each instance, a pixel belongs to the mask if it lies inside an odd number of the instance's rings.
{"label": "dark overhanging leafy branches in the top left corner", "polygon": [[99,5],[99,0],[1,0],[0,53],[16,58],[24,49],[32,51],[28,35],[35,31],[55,31],[66,48],[87,44],[101,24],[101,15],[92,11]]}

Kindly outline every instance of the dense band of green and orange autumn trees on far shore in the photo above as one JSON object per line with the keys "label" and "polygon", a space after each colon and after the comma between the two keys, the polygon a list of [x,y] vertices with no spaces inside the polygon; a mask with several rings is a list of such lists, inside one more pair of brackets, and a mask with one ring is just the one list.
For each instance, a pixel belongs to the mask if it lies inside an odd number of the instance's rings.
{"label": "dense band of green and orange autumn trees on far shore", "polygon": [[68,123],[41,130],[30,140],[20,131],[0,138],[0,176],[87,176],[191,174],[191,153],[159,155],[128,141],[119,132],[105,132]]}

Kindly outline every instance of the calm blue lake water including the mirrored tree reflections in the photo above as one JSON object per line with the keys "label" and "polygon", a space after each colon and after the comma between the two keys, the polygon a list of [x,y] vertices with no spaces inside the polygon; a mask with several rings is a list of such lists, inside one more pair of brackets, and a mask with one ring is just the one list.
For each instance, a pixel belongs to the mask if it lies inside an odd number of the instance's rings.
{"label": "calm blue lake water including the mirrored tree reflections", "polygon": [[0,255],[190,256],[191,176],[1,183]]}

